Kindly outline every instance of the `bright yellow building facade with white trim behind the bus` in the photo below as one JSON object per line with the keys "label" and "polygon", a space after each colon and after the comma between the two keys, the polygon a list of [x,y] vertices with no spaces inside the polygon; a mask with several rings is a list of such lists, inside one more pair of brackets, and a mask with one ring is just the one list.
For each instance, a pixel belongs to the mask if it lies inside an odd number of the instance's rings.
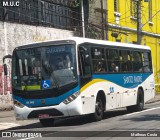
{"label": "bright yellow building facade with white trim behind the bus", "polygon": [[[160,3],[157,0],[107,0],[108,38],[147,45],[152,50],[156,84],[160,83]],[[138,13],[138,14],[137,14]],[[137,27],[137,23],[140,26]],[[137,29],[140,35],[137,35]]]}

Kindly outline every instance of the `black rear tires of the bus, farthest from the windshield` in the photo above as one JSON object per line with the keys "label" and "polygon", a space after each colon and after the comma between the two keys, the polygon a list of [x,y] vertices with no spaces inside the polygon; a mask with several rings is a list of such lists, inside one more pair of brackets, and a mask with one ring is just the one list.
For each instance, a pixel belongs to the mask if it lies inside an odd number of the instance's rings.
{"label": "black rear tires of the bus, farthest from the windshield", "polygon": [[142,89],[138,89],[137,94],[137,104],[133,106],[127,106],[128,112],[136,112],[136,111],[142,111],[144,108],[144,93]]}

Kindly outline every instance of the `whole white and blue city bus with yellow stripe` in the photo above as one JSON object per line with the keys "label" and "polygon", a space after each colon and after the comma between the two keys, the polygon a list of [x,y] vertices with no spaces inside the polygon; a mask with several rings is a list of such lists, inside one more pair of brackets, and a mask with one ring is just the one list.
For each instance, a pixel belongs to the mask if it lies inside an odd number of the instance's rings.
{"label": "whole white and blue city bus with yellow stripe", "polygon": [[54,118],[126,107],[141,111],[155,96],[147,46],[73,37],[15,48],[12,92],[17,119]]}

